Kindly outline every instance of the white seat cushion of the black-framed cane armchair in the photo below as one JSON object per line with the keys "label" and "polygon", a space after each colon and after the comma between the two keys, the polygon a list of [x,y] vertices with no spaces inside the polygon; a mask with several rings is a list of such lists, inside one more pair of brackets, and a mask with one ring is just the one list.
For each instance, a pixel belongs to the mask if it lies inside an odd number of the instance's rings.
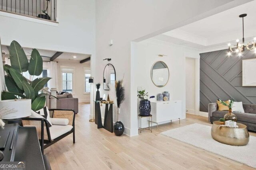
{"label": "white seat cushion of the black-framed cane armchair", "polygon": [[60,137],[61,135],[71,131],[72,128],[73,126],[71,125],[52,125],[49,127],[51,139],[53,140]]}

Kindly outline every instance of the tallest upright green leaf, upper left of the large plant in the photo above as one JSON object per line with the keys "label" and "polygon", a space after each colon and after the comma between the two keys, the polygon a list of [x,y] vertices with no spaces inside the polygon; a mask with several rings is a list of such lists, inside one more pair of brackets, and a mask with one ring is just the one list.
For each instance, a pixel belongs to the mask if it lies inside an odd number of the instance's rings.
{"label": "tallest upright green leaf, upper left of the large plant", "polygon": [[12,68],[18,72],[26,72],[28,70],[28,58],[20,44],[17,41],[12,41],[9,51]]}

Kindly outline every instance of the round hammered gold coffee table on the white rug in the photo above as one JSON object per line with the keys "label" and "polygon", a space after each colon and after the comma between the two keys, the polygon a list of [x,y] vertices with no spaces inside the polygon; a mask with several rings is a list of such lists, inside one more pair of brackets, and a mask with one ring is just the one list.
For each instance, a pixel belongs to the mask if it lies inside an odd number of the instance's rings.
{"label": "round hammered gold coffee table on the white rug", "polygon": [[227,145],[244,146],[249,142],[249,133],[247,126],[242,123],[236,123],[238,128],[224,127],[220,121],[214,121],[211,135],[215,141]]}

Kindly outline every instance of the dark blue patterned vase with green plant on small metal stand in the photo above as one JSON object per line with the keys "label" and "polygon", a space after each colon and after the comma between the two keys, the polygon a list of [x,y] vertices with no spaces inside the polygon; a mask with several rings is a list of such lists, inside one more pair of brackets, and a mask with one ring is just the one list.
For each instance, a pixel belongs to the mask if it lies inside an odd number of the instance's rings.
{"label": "dark blue patterned vase with green plant on small metal stand", "polygon": [[[143,88],[138,88],[138,98],[140,99],[139,111],[140,115],[148,116],[151,112],[150,101],[148,100],[148,92],[146,92]],[[155,96],[150,96],[150,98],[154,98]]]}

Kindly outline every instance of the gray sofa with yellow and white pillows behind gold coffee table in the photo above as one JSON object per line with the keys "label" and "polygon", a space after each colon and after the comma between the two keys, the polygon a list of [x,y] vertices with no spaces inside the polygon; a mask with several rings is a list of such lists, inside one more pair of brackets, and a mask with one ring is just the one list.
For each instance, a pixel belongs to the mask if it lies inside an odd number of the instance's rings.
{"label": "gray sofa with yellow and white pillows behind gold coffee table", "polygon": [[[256,131],[256,104],[243,104],[244,112],[233,112],[237,117],[237,122],[247,126],[249,131]],[[208,104],[209,122],[217,121],[223,118],[228,111],[218,111],[217,103]]]}

